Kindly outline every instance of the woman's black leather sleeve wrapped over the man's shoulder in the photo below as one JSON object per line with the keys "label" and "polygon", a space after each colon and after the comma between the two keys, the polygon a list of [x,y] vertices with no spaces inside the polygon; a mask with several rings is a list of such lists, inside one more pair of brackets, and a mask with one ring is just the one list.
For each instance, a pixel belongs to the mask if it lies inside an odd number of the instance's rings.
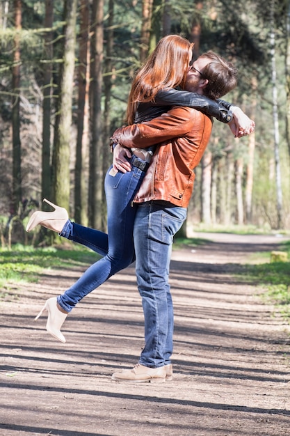
{"label": "woman's black leather sleeve wrapped over the man's shoulder", "polygon": [[211,100],[198,93],[178,91],[177,89],[159,91],[155,97],[154,103],[159,106],[193,107],[206,115],[214,116],[214,118],[222,123],[229,123],[229,121],[232,120],[232,111],[230,109],[232,104],[224,102],[223,100]]}

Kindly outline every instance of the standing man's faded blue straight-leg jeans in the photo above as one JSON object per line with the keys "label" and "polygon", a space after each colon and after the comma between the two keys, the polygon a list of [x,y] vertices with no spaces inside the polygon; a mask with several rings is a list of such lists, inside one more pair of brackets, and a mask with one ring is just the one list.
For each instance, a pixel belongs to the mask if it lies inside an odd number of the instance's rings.
{"label": "standing man's faded blue straight-leg jeans", "polygon": [[163,201],[142,203],[136,212],[136,275],[145,318],[145,347],[139,363],[151,368],[170,364],[173,348],[170,256],[173,237],[185,219],[185,208]]}

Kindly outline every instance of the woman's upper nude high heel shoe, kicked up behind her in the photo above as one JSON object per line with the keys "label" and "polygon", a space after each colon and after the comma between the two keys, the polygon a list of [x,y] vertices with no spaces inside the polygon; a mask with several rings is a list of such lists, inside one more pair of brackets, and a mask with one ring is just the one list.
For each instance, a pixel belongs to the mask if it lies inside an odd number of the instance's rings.
{"label": "woman's upper nude high heel shoe, kicked up behind her", "polygon": [[42,227],[49,228],[49,230],[57,233],[61,233],[63,226],[68,219],[67,211],[65,208],[60,208],[54,203],[51,203],[51,201],[48,201],[46,198],[44,198],[43,201],[51,205],[52,208],[54,208],[54,211],[42,212],[42,210],[38,210],[37,212],[34,212],[26,226],[26,232],[30,232],[33,230],[33,228],[40,224]]}

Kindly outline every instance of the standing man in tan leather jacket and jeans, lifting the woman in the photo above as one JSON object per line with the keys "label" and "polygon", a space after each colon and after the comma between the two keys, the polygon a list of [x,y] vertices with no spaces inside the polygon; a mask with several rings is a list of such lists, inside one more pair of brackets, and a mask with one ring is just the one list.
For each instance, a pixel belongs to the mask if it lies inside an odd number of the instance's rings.
{"label": "standing man in tan leather jacket and jeans, lifting the woman", "polygon": [[[235,86],[236,68],[213,52],[200,56],[188,70],[187,91],[220,98]],[[113,380],[172,379],[173,307],[168,283],[172,240],[186,219],[193,170],[204,154],[211,128],[211,118],[202,112],[175,107],[159,118],[113,134],[113,141],[126,148],[161,144],[134,199],[138,204],[134,222],[136,276],[145,318],[145,347],[138,364],[114,373]],[[129,150],[120,146],[114,150],[115,169],[129,171]]]}

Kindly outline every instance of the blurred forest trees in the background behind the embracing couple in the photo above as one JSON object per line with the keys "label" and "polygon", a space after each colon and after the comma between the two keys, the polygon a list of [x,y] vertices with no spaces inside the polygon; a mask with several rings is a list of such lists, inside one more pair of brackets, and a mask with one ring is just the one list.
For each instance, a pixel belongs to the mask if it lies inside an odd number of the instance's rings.
{"label": "blurred forest trees in the background behind the embracing couple", "polygon": [[[19,242],[42,198],[106,230],[104,174],[131,78],[179,33],[239,68],[226,100],[255,120],[234,139],[215,122],[196,170],[187,230],[290,228],[290,1],[0,1],[0,235]],[[46,237],[42,229],[38,242]]]}

